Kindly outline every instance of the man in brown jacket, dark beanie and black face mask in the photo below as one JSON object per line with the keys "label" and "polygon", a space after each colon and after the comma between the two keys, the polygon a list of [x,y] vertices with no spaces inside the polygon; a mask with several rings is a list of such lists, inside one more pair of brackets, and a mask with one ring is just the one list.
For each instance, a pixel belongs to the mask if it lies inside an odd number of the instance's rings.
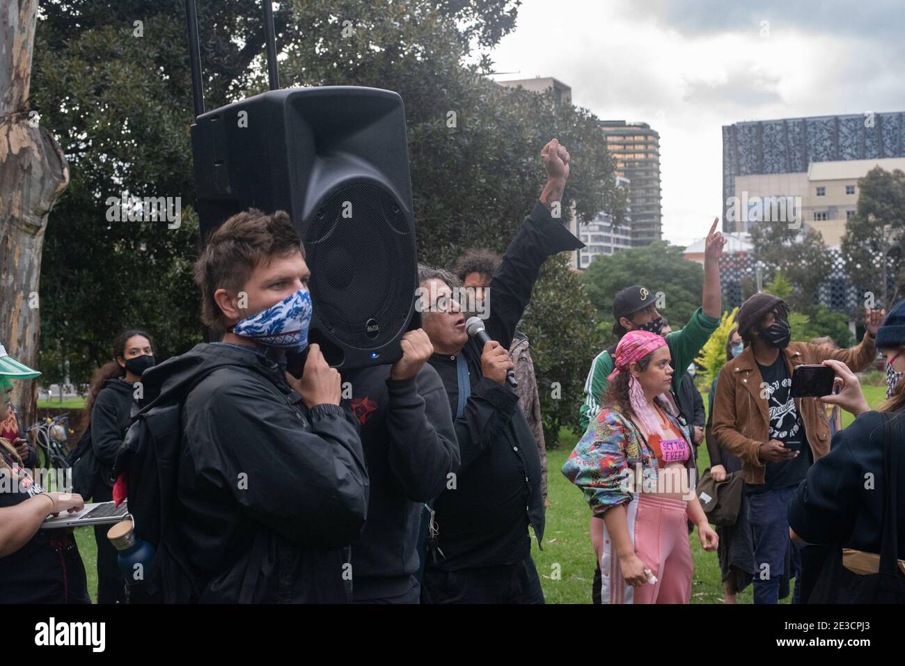
{"label": "man in brown jacket, dark beanie and black face mask", "polygon": [[756,604],[776,604],[788,594],[786,585],[798,560],[797,546],[788,538],[788,503],[814,460],[830,449],[823,404],[791,395],[794,368],[834,358],[855,372],[862,370],[877,356],[874,338],[884,314],[868,309],[861,344],[830,350],[790,343],[786,301],[776,296],[757,293],[738,311],[745,350],[719,371],[713,435],[742,461],[754,536]]}

